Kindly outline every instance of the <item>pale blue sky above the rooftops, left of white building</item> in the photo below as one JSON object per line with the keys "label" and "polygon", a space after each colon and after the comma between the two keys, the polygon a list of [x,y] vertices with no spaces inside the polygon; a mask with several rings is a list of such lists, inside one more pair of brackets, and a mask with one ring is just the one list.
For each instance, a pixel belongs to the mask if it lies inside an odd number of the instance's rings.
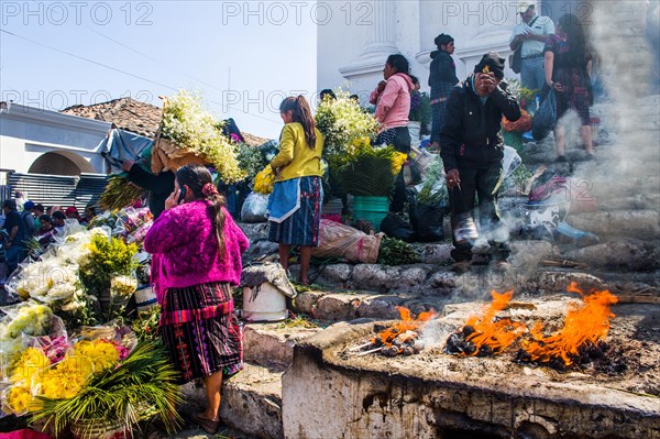
{"label": "pale blue sky above the rooftops, left of white building", "polygon": [[276,138],[282,99],[316,92],[314,2],[296,4],[1,0],[0,100],[61,110],[130,96],[161,106],[158,95],[185,88],[201,91],[218,119]]}

